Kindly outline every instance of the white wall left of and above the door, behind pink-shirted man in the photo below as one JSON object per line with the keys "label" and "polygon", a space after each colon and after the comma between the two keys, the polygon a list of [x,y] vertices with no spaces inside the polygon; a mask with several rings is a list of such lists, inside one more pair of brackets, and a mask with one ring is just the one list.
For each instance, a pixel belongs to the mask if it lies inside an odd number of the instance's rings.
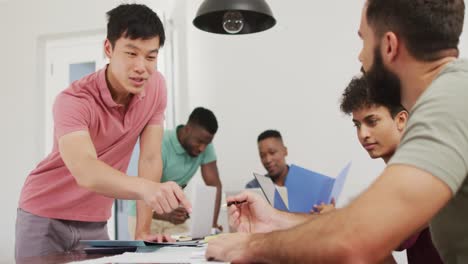
{"label": "white wall left of and above the door, behind pink-shirted man", "polygon": [[[0,263],[12,263],[19,193],[28,173],[43,158],[42,90],[38,39],[105,30],[105,12],[122,0],[5,0],[0,2],[2,113]],[[128,1],[135,2],[135,1]],[[155,10],[169,1],[137,1]]]}

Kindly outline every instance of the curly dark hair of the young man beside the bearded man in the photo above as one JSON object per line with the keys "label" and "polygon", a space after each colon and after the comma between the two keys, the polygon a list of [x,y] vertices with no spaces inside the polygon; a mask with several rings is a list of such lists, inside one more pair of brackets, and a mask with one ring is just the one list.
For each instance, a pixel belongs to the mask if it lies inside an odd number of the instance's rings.
{"label": "curly dark hair of the young man beside the bearded man", "polygon": [[387,108],[392,118],[395,118],[399,112],[405,110],[401,104],[376,103],[369,95],[366,78],[364,76],[353,78],[341,97],[341,111],[350,115],[353,111],[371,106],[383,106]]}

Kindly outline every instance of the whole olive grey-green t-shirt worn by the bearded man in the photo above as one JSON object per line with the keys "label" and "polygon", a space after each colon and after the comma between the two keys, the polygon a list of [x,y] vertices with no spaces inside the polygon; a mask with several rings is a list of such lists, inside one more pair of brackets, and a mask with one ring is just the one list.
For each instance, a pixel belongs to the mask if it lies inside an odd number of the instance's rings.
{"label": "whole olive grey-green t-shirt worn by the bearded man", "polygon": [[452,199],[430,223],[432,239],[444,263],[468,263],[467,60],[445,66],[420,96],[389,164],[422,169],[450,187]]}

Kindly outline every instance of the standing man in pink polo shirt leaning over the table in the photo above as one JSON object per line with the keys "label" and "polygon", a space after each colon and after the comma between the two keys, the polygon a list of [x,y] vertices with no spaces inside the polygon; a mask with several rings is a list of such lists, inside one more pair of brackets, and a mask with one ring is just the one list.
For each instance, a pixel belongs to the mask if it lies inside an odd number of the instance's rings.
{"label": "standing man in pink polo shirt leaning over the table", "polygon": [[[182,205],[191,211],[176,183],[160,183],[166,87],[155,69],[165,39],[162,23],[139,4],[107,15],[109,64],[57,96],[52,152],[21,191],[17,258],[74,250],[81,239],[108,239],[114,198],[138,200],[138,239],[162,239],[149,233],[153,210],[169,213]],[[128,177],[138,137],[138,177]]]}

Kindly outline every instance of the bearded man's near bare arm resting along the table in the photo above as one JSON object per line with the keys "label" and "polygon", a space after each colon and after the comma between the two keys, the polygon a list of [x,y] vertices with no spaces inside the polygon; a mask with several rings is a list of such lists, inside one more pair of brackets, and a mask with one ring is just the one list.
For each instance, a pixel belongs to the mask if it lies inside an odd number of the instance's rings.
{"label": "bearded man's near bare arm resting along the table", "polygon": [[206,256],[240,262],[378,263],[451,197],[450,188],[430,173],[390,165],[341,210],[287,230],[223,236],[210,241]]}

